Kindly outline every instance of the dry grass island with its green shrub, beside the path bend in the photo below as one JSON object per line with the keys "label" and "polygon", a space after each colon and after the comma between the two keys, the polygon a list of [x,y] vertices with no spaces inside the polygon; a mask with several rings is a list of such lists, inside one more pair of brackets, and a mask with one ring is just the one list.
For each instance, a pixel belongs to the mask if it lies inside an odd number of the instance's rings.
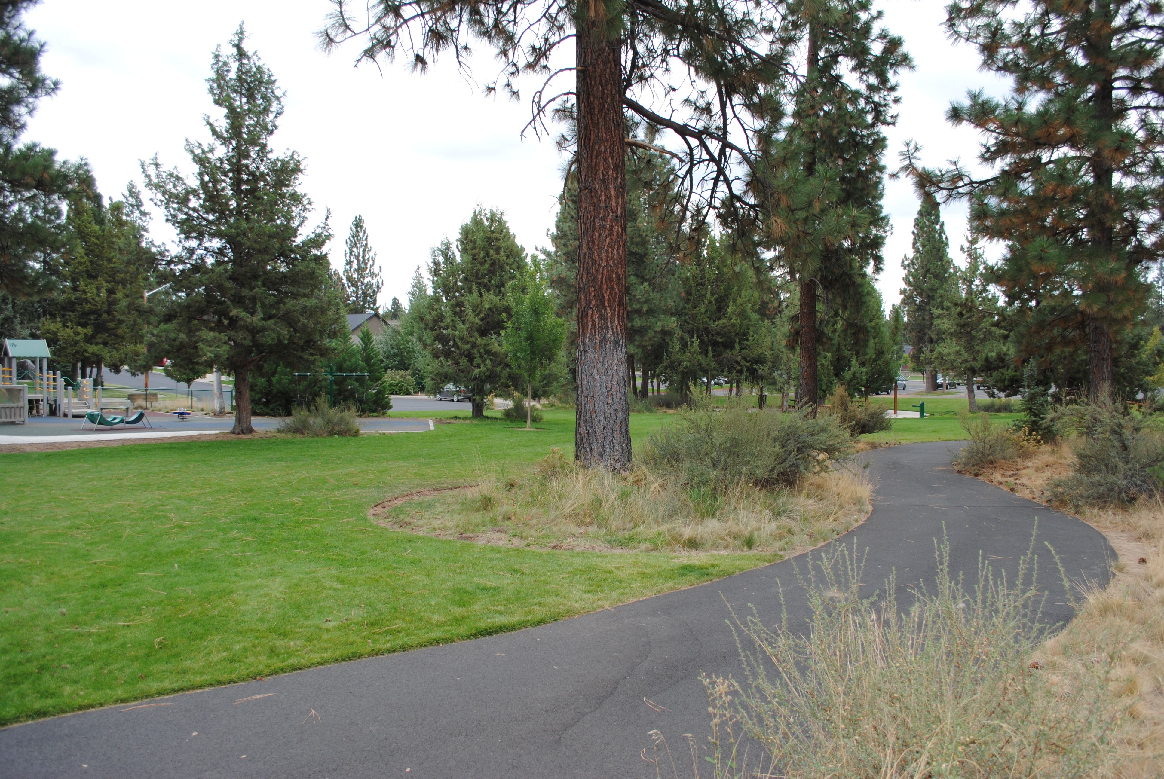
{"label": "dry grass island with its green shrub, beside the path bend", "polygon": [[696,399],[629,473],[587,469],[554,448],[533,473],[483,476],[461,494],[384,507],[381,524],[551,548],[793,553],[870,511],[852,449],[830,418]]}

